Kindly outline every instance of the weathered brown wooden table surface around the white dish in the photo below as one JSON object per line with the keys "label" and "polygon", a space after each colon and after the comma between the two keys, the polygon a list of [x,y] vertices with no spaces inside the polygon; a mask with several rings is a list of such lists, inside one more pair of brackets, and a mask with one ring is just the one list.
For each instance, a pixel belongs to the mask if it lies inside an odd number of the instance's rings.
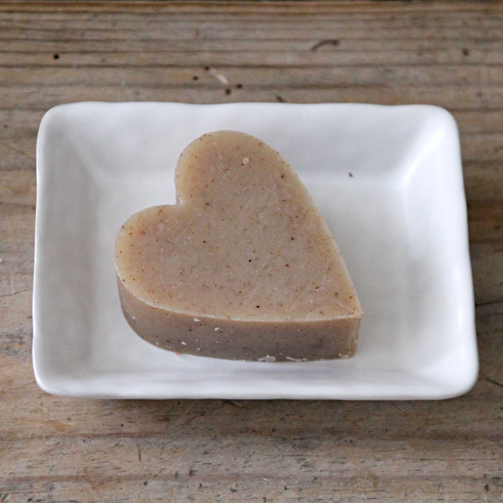
{"label": "weathered brown wooden table surface around the white dish", "polygon": [[[79,400],[33,378],[35,141],[82,101],[429,103],[461,132],[480,375],[445,401]],[[0,501],[503,501],[503,5],[0,4]]]}

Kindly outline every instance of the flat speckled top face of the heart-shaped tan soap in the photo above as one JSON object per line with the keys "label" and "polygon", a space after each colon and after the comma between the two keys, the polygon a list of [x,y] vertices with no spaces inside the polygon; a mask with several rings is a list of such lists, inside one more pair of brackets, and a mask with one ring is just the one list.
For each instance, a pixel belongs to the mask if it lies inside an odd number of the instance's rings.
{"label": "flat speckled top face of the heart-shaped tan soap", "polygon": [[241,321],[362,316],[340,250],[282,156],[236,131],[179,157],[177,205],[146,208],[117,235],[119,281],[147,305]]}

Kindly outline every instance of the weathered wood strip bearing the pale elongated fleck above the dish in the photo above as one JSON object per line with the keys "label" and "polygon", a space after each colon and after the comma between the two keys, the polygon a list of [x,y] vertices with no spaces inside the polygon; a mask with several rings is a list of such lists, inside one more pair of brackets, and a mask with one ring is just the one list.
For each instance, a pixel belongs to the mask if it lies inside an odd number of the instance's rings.
{"label": "weathered wood strip bearing the pale elongated fleck above the dish", "polygon": [[[198,85],[218,86],[222,83],[242,83],[246,86],[269,87],[350,87],[350,86],[502,86],[503,65],[436,65],[436,66],[364,66],[364,67],[214,67],[212,71],[200,68],[166,67],[42,67],[3,68],[0,86],[60,87],[82,86],[176,86],[194,82]],[[148,84],[146,84],[148,82]]]}

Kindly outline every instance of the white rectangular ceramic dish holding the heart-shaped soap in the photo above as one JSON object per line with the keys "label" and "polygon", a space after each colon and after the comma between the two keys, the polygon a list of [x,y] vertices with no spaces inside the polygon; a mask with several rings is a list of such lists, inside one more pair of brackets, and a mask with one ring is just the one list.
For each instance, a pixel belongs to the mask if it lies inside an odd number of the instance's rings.
{"label": "white rectangular ceramic dish holding the heart-shaped soap", "polygon": [[[202,133],[236,129],[288,159],[336,236],[365,316],[349,360],[176,356],[137,337],[115,284],[119,226],[174,203]],[[58,395],[117,398],[447,398],[478,359],[455,121],[430,106],[77,103],[37,142],[33,365]]]}

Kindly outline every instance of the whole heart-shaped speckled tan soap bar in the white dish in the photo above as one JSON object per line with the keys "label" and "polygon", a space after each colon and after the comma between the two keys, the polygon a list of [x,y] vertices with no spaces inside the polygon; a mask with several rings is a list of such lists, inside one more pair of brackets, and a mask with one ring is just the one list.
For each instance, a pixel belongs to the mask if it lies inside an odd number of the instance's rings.
{"label": "whole heart-shaped speckled tan soap bar in the white dish", "polygon": [[124,315],[159,348],[215,358],[349,357],[362,309],[328,227],[269,145],[237,131],[193,141],[176,205],[129,218],[115,242]]}

